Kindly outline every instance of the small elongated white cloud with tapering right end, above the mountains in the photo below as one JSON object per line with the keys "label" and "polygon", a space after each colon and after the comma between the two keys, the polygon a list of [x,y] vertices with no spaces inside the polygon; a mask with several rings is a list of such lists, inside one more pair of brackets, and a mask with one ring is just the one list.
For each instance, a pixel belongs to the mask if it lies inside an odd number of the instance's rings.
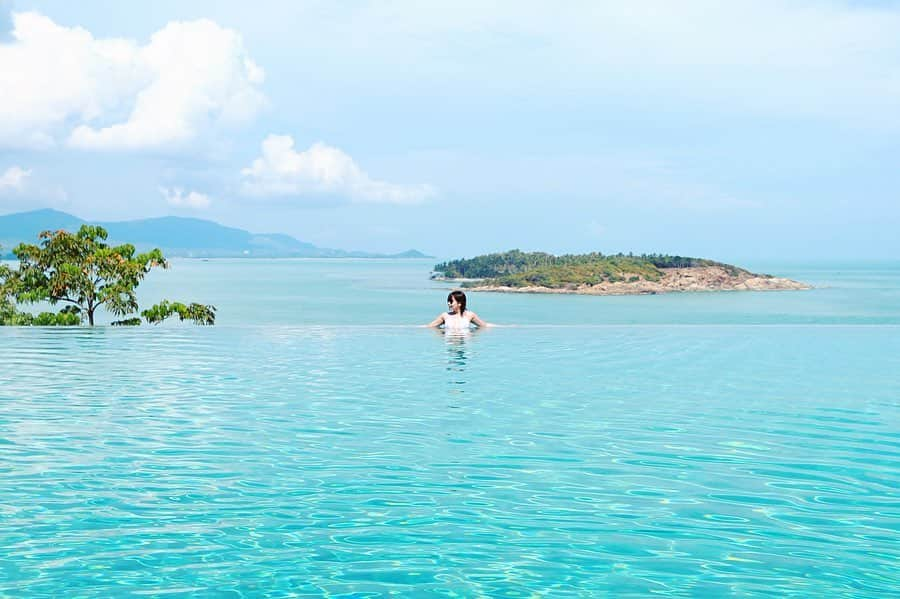
{"label": "small elongated white cloud with tapering right end, above the mountains", "polygon": [[324,194],[360,203],[416,204],[436,194],[430,185],[371,179],[350,156],[323,143],[297,152],[289,135],[269,135],[262,156],[241,175],[243,191],[253,196]]}

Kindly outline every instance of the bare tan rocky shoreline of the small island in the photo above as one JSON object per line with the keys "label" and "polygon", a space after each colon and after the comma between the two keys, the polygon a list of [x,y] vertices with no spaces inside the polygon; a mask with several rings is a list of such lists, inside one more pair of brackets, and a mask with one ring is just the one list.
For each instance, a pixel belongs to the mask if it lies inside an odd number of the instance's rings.
{"label": "bare tan rocky shoreline of the small island", "polygon": [[658,281],[603,282],[596,285],[569,285],[566,287],[504,287],[498,285],[474,285],[466,291],[492,291],[500,293],[571,293],[579,295],[652,295],[693,291],[786,291],[812,289],[811,285],[769,275],[747,271],[729,272],[720,266],[696,266],[690,268],[661,268]]}

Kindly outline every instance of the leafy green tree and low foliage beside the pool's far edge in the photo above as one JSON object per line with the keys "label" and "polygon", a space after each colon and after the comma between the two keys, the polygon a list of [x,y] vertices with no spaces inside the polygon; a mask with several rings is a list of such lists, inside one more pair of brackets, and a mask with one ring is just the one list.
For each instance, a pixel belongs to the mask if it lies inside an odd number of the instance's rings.
{"label": "leafy green tree and low foliage beside the pool's far edge", "polygon": [[[44,231],[39,245],[22,243],[13,249],[19,268],[0,265],[0,325],[78,325],[101,306],[121,318],[114,325],[138,325],[136,289],[153,268],[168,268],[159,249],[137,254],[130,243],[111,247],[103,227],[82,225],[77,233]],[[33,316],[18,304],[66,304],[59,312]],[[162,302],[142,311],[148,323],[170,316],[197,324],[216,320],[215,306]]]}

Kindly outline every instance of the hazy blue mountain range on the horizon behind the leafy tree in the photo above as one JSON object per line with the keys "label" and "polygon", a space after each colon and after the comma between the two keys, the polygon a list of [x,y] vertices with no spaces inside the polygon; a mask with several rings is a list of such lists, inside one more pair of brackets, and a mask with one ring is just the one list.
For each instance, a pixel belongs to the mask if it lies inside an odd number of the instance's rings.
{"label": "hazy blue mountain range on the horizon behind the leafy tree", "polygon": [[[0,256],[11,257],[21,242],[37,243],[47,230],[75,231],[88,221],[58,210],[34,210],[0,216]],[[430,258],[417,250],[399,254],[316,247],[281,233],[256,234],[209,220],[164,216],[120,222],[93,222],[109,233],[109,242],[132,243],[139,250],[158,247],[168,257],[193,258]]]}

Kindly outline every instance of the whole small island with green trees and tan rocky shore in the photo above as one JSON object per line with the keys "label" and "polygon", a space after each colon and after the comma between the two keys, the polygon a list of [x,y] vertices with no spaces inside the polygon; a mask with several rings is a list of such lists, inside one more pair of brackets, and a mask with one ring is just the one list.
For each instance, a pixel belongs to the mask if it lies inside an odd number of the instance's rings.
{"label": "whole small island with green trees and tan rocky shore", "polygon": [[450,260],[434,267],[436,280],[459,281],[471,291],[638,295],[678,291],[810,289],[791,279],[752,273],[704,258],[661,254],[508,252]]}

